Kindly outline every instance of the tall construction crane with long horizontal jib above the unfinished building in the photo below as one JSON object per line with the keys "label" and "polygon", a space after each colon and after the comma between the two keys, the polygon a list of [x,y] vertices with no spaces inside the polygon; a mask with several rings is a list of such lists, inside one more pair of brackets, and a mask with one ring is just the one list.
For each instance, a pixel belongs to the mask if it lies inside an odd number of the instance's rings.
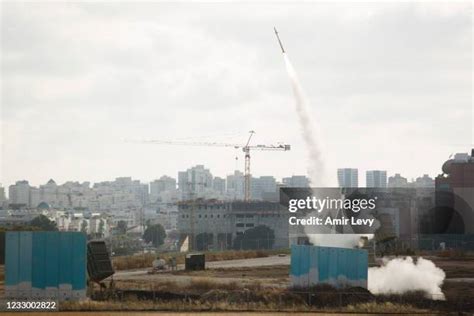
{"label": "tall construction crane with long horizontal jib above the unfinished building", "polygon": [[145,144],[158,144],[158,145],[184,145],[184,146],[211,146],[211,147],[232,147],[242,148],[245,155],[245,172],[244,172],[244,196],[245,201],[250,201],[250,151],[251,150],[271,150],[271,151],[288,151],[291,149],[290,145],[277,144],[277,145],[250,145],[252,136],[255,131],[249,131],[249,138],[245,144],[228,144],[228,143],[215,143],[215,142],[187,142],[187,141],[168,141],[168,140],[144,140],[140,143]]}

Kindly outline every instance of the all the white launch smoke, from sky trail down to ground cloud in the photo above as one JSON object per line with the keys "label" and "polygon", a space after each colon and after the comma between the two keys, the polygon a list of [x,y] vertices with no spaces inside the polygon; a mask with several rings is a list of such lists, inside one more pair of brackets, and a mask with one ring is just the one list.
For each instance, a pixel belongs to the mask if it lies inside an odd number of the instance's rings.
{"label": "all the white launch smoke, from sky trail down to ground cloud", "polygon": [[[303,139],[308,149],[308,175],[311,185],[313,187],[329,186],[319,128],[313,123],[308,102],[299,83],[296,71],[286,53],[283,56],[296,99],[296,112],[302,127]],[[317,192],[313,192],[313,194],[317,195]],[[307,236],[313,245],[347,248],[357,246],[362,236],[369,239],[373,237],[373,235],[334,234],[334,232],[323,231],[320,231],[318,234],[307,232]],[[441,291],[444,278],[444,271],[436,267],[430,260],[418,258],[414,262],[410,257],[392,260],[385,259],[382,267],[369,269],[368,287],[374,294],[400,294],[407,291],[421,290],[429,298],[444,299],[444,294]]]}

